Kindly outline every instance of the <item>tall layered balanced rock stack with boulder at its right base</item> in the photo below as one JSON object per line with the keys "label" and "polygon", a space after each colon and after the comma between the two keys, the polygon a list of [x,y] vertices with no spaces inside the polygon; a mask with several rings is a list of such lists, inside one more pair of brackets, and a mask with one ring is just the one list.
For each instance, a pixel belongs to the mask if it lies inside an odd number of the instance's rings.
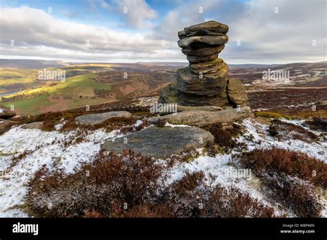
{"label": "tall layered balanced rock stack with boulder at its right base", "polygon": [[[227,32],[228,26],[217,21],[207,21],[178,32],[178,46],[190,64],[177,70],[177,86],[172,84],[161,90],[160,103],[246,106],[247,96],[241,81],[228,80],[228,65],[218,58],[228,41]],[[228,89],[229,84],[231,89]]]}

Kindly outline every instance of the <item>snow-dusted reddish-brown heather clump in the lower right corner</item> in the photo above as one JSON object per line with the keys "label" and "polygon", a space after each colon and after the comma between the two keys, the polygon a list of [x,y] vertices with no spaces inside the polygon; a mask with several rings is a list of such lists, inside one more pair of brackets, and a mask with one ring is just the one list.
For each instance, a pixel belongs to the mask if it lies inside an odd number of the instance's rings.
{"label": "snow-dusted reddish-brown heather clump in the lower right corner", "polygon": [[274,199],[282,201],[298,217],[320,217],[323,206],[315,195],[314,186],[326,189],[326,163],[279,148],[245,152],[241,163],[263,180],[272,190]]}

